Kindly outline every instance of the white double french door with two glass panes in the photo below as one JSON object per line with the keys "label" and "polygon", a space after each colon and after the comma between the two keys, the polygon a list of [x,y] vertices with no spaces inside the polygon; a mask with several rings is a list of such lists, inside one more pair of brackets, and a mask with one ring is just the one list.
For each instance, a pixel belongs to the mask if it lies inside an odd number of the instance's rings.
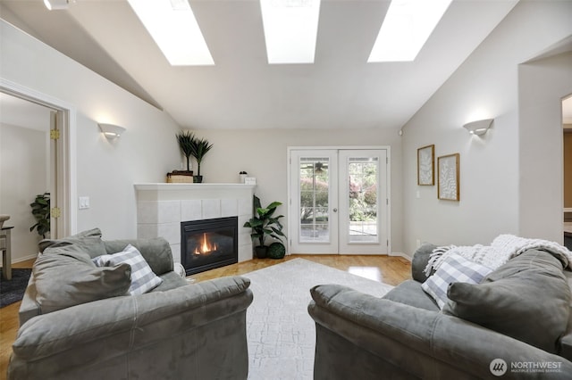
{"label": "white double french door with two glass panes", "polygon": [[387,149],[290,150],[290,253],[386,254]]}

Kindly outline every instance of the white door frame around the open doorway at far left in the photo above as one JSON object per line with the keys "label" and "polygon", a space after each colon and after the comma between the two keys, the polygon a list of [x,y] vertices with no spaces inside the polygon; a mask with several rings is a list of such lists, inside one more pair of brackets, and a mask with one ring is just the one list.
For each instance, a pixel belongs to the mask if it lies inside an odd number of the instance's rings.
{"label": "white door frame around the open doorway at far left", "polygon": [[[57,140],[57,160],[56,160],[56,183],[50,186],[57,186],[55,206],[62,211],[60,218],[52,219],[55,222],[57,231],[52,238],[62,238],[73,235],[77,231],[77,165],[76,157],[76,129],[77,112],[74,105],[57,99],[54,96],[43,94],[29,87],[21,86],[10,80],[0,78],[0,92],[13,95],[31,103],[37,103],[51,108],[57,112],[57,120],[60,138]],[[46,120],[50,122],[50,120]]]}

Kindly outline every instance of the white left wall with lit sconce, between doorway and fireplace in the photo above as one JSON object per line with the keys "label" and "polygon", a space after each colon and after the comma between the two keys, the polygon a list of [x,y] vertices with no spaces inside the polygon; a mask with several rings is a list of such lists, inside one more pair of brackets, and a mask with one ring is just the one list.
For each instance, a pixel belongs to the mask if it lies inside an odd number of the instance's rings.
{"label": "white left wall with lit sconce, between doorway and fireplace", "polygon": [[[77,194],[91,208],[78,211],[76,230],[100,227],[106,239],[136,237],[134,183],[163,182],[179,168],[171,117],[53,48],[0,21],[0,78],[72,104]],[[109,143],[97,122],[127,128]]]}

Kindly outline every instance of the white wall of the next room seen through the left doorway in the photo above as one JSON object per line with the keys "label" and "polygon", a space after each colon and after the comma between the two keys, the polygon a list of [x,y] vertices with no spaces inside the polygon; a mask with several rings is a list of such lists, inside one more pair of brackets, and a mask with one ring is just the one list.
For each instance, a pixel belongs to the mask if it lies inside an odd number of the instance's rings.
{"label": "white wall of the next room seen through the left doorway", "polygon": [[[46,124],[49,126],[46,115]],[[40,236],[29,227],[36,224],[29,203],[36,194],[49,191],[46,157],[49,135],[34,128],[0,123],[0,213],[10,215],[4,226],[14,227],[12,260],[17,262],[38,254]]]}

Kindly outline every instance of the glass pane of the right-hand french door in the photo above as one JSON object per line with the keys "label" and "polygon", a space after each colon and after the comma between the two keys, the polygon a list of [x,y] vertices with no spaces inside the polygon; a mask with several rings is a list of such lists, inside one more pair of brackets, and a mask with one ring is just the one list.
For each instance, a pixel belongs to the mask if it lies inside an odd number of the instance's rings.
{"label": "glass pane of the right-hand french door", "polygon": [[349,158],[349,243],[378,243],[379,159]]}

